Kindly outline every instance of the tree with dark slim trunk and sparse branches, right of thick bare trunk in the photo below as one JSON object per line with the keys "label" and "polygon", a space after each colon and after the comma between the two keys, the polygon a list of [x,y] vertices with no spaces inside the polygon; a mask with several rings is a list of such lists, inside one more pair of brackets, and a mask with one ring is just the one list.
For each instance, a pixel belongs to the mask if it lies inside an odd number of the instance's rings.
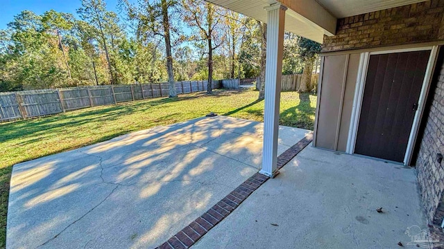
{"label": "tree with dark slim trunk and sparse branches, right of thick bare trunk", "polygon": [[217,7],[212,3],[200,0],[182,0],[182,3],[185,8],[185,22],[199,32],[199,36],[193,35],[191,39],[207,43],[207,52],[205,52],[208,66],[207,93],[210,94],[213,81],[213,52],[221,46],[224,39],[217,30],[221,17],[216,13]]}

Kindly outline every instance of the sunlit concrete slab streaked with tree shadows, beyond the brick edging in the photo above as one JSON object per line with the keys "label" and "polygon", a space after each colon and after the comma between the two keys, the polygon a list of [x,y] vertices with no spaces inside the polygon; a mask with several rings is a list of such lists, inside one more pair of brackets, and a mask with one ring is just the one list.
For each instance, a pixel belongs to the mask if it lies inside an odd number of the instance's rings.
{"label": "sunlit concrete slab streaked with tree shadows, beyond the brick edging", "polygon": [[[260,127],[198,118],[17,164],[6,247],[159,246],[257,172]],[[293,143],[309,132],[281,129]]]}

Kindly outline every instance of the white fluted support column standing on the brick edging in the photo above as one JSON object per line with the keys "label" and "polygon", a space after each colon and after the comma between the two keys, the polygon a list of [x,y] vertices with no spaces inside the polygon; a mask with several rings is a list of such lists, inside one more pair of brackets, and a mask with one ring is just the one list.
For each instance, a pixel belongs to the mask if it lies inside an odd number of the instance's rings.
{"label": "white fluted support column standing on the brick edging", "polygon": [[265,8],[268,12],[265,64],[264,145],[260,174],[271,178],[279,174],[278,131],[279,104],[284,53],[284,21],[287,8],[275,3]]}

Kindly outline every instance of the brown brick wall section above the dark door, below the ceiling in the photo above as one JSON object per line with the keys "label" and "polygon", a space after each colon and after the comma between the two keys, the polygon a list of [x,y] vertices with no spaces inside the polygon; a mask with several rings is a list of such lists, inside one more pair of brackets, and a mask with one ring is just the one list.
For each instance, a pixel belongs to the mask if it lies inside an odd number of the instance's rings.
{"label": "brown brick wall section above the dark door, below the ceiling", "polygon": [[379,10],[338,20],[323,52],[444,40],[444,0]]}

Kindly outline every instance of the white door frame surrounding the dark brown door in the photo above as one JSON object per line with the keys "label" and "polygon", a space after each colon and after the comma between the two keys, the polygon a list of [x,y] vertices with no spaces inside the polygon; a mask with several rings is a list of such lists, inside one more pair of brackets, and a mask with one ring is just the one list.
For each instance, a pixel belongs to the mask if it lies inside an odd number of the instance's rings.
{"label": "white door frame surrounding the dark brown door", "polygon": [[432,81],[432,71],[434,69],[434,64],[436,62],[436,55],[438,53],[438,46],[427,46],[422,48],[406,48],[406,49],[396,49],[396,50],[384,50],[376,52],[366,52],[361,53],[359,59],[359,68],[356,80],[355,96],[353,97],[352,106],[352,116],[350,118],[350,129],[348,130],[348,140],[347,149],[348,154],[355,153],[356,138],[359,127],[359,118],[361,115],[362,100],[364,98],[364,89],[366,86],[366,77],[368,70],[368,62],[370,61],[370,55],[382,55],[388,53],[402,53],[402,52],[413,52],[431,50],[429,56],[429,62],[427,62],[427,68],[424,75],[424,80],[422,82],[422,87],[420,91],[420,97],[418,100],[418,110],[413,118],[413,125],[411,127],[409,142],[407,143],[407,149],[404,154],[404,165],[409,165],[411,156],[413,154],[413,147],[418,136],[418,130],[420,125],[420,120],[422,118],[422,113],[424,112],[425,102],[427,100],[427,93],[429,92],[430,82]]}

